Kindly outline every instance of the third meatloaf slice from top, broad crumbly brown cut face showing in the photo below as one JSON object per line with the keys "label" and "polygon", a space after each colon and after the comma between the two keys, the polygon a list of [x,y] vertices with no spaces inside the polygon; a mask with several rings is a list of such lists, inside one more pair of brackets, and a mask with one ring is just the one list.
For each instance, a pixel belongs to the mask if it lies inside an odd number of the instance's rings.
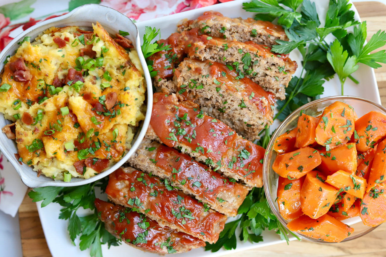
{"label": "third meatloaf slice from top, broad crumbly brown cut face showing", "polygon": [[258,139],[259,131],[271,125],[274,95],[224,64],[185,59],[174,73],[174,88],[162,84],[162,92],[193,100],[245,138]]}

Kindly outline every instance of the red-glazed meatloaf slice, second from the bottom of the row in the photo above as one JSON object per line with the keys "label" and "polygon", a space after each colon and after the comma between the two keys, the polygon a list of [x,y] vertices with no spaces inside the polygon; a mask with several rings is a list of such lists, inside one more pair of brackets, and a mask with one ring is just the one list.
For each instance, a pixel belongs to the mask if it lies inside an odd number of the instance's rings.
{"label": "red-glazed meatloaf slice, second from the bottom of the row", "polygon": [[111,173],[106,193],[112,202],[145,214],[161,227],[168,226],[211,244],[218,240],[227,220],[225,215],[173,188],[168,180],[134,168],[119,168]]}

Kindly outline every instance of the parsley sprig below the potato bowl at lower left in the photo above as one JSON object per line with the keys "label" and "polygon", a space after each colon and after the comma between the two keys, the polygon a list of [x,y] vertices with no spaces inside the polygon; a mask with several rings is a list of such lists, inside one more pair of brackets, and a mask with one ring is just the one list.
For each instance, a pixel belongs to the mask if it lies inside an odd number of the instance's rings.
{"label": "parsley sprig below the potato bowl at lower left", "polygon": [[[105,190],[108,177],[102,180],[82,185],[71,187],[46,186],[34,188],[28,193],[32,198],[32,202],[41,203],[41,207],[45,207],[51,202],[59,203],[63,209],[60,210],[59,218],[68,220],[68,233],[72,243],[80,236],[80,250],[90,248],[90,256],[102,257],[102,244],[119,245],[120,241],[111,235],[105,225],[98,218],[97,210],[95,209],[95,188]],[[79,217],[76,211],[79,208],[94,210],[93,214],[85,217]]]}

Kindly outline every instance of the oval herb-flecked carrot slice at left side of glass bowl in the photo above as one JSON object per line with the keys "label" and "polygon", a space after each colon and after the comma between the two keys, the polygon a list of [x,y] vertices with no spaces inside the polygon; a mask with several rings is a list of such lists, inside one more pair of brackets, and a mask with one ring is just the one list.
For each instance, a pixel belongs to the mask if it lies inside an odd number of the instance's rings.
{"label": "oval herb-flecked carrot slice at left side of glass bowl", "polygon": [[276,156],[272,169],[283,178],[300,178],[320,164],[318,150],[303,147],[298,150]]}

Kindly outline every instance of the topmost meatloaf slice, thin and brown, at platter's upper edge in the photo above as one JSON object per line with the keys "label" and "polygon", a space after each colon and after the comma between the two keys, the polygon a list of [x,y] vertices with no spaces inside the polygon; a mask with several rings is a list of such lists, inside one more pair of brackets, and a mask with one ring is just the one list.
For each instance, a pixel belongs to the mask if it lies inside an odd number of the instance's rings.
{"label": "topmost meatloaf slice, thin and brown, at platter's upper edge", "polygon": [[178,25],[178,31],[197,28],[201,34],[212,37],[221,37],[229,41],[237,40],[240,42],[253,41],[257,44],[277,45],[275,40],[281,39],[288,41],[284,29],[279,25],[262,20],[247,18],[224,17],[219,12],[204,12],[196,20],[188,20]]}

